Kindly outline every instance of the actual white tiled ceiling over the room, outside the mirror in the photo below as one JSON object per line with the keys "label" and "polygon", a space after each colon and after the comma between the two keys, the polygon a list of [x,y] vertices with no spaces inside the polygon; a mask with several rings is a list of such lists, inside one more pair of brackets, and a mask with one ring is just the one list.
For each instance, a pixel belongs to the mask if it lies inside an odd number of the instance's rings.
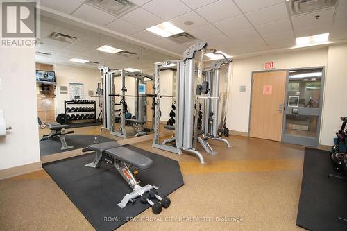
{"label": "actual white tiled ceiling over the room, outside the mirror", "polygon": [[[171,22],[198,39],[207,41],[215,49],[233,56],[290,49],[295,45],[295,37],[321,33],[330,33],[330,41],[347,39],[347,0],[337,0],[336,7],[294,17],[289,17],[285,0],[130,1],[137,8],[121,17],[87,5],[85,0],[44,0],[41,5],[46,10],[60,12],[60,15],[95,24],[176,54],[182,54],[194,42],[176,44],[146,31],[146,28],[165,21]],[[319,19],[314,17],[316,15],[320,16]],[[187,21],[194,23],[187,26]],[[87,41],[89,39],[79,43]],[[88,51],[85,55],[93,52]]]}

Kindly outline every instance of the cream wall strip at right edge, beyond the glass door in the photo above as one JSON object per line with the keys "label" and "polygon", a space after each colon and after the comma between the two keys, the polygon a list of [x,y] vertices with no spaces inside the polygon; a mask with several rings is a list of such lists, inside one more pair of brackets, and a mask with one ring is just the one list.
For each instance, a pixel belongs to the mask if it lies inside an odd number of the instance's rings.
{"label": "cream wall strip at right edge, beyond the glass door", "polygon": [[332,145],[341,127],[339,117],[347,116],[347,44],[329,46],[323,101],[321,144]]}

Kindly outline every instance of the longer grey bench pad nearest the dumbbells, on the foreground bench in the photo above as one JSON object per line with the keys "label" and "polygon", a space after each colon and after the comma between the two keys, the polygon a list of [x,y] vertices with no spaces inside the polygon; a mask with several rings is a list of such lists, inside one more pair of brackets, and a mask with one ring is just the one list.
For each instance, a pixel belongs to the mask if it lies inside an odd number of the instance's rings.
{"label": "longer grey bench pad nearest the dumbbells, on the foreground bench", "polygon": [[108,149],[106,153],[117,160],[131,164],[139,169],[148,169],[153,163],[153,160],[151,160],[149,157],[146,157],[141,153],[138,153],[137,151],[130,150],[123,146]]}

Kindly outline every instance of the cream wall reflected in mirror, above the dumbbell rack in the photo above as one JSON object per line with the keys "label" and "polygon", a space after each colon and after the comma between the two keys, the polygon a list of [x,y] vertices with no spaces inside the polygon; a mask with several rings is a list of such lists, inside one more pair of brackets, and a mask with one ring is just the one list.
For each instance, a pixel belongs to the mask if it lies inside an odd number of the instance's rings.
{"label": "cream wall reflected in mirror, above the dumbbell rack", "polygon": [[[98,98],[88,96],[88,90],[92,90],[96,95],[96,88],[100,82],[100,72],[97,68],[85,68],[69,65],[54,65],[53,70],[56,71],[56,116],[64,113],[64,101],[70,101],[69,83],[83,83],[84,99],[96,101],[96,117],[99,115]],[[60,86],[67,86],[68,94],[60,94]],[[91,105],[85,105],[90,107]]]}

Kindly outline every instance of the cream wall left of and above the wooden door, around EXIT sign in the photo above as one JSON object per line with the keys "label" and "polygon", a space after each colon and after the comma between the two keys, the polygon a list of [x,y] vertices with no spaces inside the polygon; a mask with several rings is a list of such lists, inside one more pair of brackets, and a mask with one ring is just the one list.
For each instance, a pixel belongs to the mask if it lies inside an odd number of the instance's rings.
{"label": "cream wall left of and above the wooden door, around EXIT sign", "polygon": [[[275,62],[276,69],[289,69],[326,66],[327,60],[327,47],[235,59],[232,64],[226,126],[237,132],[248,132],[252,71],[262,71],[265,62]],[[242,85],[246,86],[246,92],[239,92],[239,86]]]}

